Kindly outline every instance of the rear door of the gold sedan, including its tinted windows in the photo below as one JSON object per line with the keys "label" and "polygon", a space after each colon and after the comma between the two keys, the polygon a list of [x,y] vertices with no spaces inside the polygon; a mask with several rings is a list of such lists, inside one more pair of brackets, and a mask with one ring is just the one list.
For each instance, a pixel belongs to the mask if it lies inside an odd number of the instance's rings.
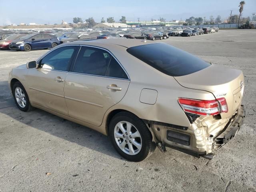
{"label": "rear door of the gold sedan, including its tinted windows", "polygon": [[128,75],[110,52],[82,46],[65,80],[69,116],[100,126],[105,112],[122,100],[129,83]]}

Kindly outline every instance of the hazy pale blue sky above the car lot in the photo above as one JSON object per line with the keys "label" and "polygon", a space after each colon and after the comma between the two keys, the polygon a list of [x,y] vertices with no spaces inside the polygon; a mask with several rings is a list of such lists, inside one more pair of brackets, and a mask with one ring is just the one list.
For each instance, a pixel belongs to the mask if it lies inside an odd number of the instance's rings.
{"label": "hazy pale blue sky above the car lot", "polygon": [[[126,2],[124,5],[124,2]],[[161,2],[161,4],[160,4]],[[166,20],[180,20],[210,15],[222,19],[232,14],[239,14],[240,0],[0,0],[0,25],[2,24],[54,24],[62,20],[72,22],[73,17],[83,20],[93,17],[96,22],[101,18],[113,16],[118,21],[121,16],[126,20],[141,21],[151,18]],[[243,16],[252,16],[256,12],[256,0],[245,0]]]}

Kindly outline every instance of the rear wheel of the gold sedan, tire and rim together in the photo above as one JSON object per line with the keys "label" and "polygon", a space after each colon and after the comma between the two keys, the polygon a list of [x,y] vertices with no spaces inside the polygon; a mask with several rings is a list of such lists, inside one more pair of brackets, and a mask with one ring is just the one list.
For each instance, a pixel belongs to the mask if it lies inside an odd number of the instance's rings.
{"label": "rear wheel of the gold sedan, tire and rim together", "polygon": [[129,161],[142,161],[156,148],[146,124],[129,112],[120,112],[112,118],[109,135],[116,151]]}

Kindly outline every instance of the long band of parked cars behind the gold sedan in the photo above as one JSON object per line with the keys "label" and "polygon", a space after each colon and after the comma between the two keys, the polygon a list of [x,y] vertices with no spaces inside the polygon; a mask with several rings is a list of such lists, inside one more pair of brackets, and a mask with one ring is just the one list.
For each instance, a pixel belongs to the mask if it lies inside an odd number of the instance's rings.
{"label": "long band of parked cars behind the gold sedan", "polygon": [[54,48],[59,44],[109,38],[128,38],[141,40],[163,40],[169,36],[196,36],[218,32],[212,28],[136,28],[130,30],[39,30],[39,31],[0,31],[0,49],[30,51]]}

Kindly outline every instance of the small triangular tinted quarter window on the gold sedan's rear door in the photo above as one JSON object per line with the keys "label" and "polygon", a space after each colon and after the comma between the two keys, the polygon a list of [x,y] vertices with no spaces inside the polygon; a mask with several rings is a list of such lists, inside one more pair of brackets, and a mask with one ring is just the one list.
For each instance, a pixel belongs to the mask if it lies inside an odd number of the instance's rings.
{"label": "small triangular tinted quarter window on the gold sedan's rear door", "polygon": [[118,62],[113,57],[110,60],[106,76],[128,79],[122,67],[118,64]]}

